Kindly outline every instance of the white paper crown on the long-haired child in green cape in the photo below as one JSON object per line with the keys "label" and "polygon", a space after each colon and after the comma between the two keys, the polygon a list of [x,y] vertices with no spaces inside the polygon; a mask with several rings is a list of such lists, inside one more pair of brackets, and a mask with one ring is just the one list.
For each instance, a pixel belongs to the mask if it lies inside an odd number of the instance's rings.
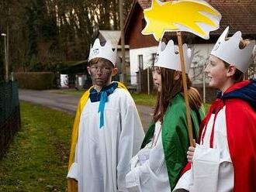
{"label": "white paper crown on the long-haired child in green cape", "polygon": [[[183,44],[182,48],[185,61],[185,73],[189,74],[192,51],[188,48],[187,44]],[[175,46],[173,40],[168,41],[167,45],[165,45],[164,42],[159,43],[157,56],[154,60],[154,67],[164,67],[171,70],[182,71],[178,46]]]}

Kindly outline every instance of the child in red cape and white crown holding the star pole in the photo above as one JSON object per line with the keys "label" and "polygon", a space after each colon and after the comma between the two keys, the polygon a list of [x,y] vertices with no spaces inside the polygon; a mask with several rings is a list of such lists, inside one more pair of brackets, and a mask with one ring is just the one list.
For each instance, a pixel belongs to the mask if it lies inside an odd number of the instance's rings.
{"label": "child in red cape and white crown holding the star pole", "polygon": [[256,81],[244,81],[255,41],[241,33],[227,39],[228,27],[209,56],[209,86],[221,92],[202,122],[189,164],[174,191],[256,189]]}

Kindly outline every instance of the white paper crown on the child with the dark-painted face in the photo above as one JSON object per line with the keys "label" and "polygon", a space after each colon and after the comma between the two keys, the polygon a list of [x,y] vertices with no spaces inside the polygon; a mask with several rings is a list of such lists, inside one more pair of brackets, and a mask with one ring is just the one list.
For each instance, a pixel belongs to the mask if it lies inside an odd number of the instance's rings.
{"label": "white paper crown on the child with the dark-painted face", "polygon": [[91,45],[88,61],[99,57],[109,60],[114,66],[116,65],[116,49],[112,50],[112,45],[109,41],[106,41],[106,44],[101,46],[99,39],[95,39],[93,46]]}

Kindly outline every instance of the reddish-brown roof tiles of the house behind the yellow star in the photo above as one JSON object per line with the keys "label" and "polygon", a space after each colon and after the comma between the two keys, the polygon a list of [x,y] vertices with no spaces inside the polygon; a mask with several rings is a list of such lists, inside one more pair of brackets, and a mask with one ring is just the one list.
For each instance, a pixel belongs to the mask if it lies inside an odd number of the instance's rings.
{"label": "reddish-brown roof tiles of the house behind the yellow star", "polygon": [[[169,0],[166,0],[165,2],[168,1]],[[151,5],[151,0],[137,0],[135,2],[138,2],[142,9],[150,8]],[[220,29],[211,32],[211,35],[219,36],[227,26],[230,26],[231,34],[240,30],[243,33],[243,35],[255,38],[256,2],[254,0],[207,0],[206,2],[208,2],[215,9],[217,9],[222,15]]]}

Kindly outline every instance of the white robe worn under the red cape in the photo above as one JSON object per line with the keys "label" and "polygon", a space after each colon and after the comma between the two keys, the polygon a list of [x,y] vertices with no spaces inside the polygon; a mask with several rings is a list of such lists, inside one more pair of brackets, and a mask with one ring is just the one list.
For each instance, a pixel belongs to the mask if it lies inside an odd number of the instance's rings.
{"label": "white robe worn under the red cape", "polygon": [[[209,149],[210,135],[213,128],[214,114],[209,118],[209,122],[206,128],[202,130],[206,133],[201,139],[200,145],[195,147],[195,153],[193,156],[192,168],[185,172],[178,180],[178,183],[174,191],[179,189],[185,189],[189,191],[216,191],[216,192],[229,192],[234,188],[234,167],[230,158],[230,151],[227,142],[227,124],[224,106],[216,116],[213,149],[217,152],[211,152]],[[203,153],[204,154],[203,154]],[[204,162],[200,162],[200,159],[204,159]],[[209,159],[207,159],[209,158]],[[199,175],[195,176],[195,159],[197,161],[196,172]],[[209,160],[209,162],[207,162]],[[216,167],[209,166],[210,161],[216,161]],[[212,170],[209,170],[212,169]],[[207,171],[208,170],[208,171]],[[215,172],[216,170],[216,172]],[[207,178],[207,172],[210,177]],[[199,176],[199,177],[198,177]],[[195,180],[197,178],[198,180]]]}

